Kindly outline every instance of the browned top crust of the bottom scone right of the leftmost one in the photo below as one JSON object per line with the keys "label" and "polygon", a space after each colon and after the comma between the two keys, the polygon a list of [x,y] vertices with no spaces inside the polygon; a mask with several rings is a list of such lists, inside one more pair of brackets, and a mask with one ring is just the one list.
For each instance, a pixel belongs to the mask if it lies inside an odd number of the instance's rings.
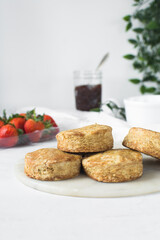
{"label": "browned top crust of the bottom scone right of the leftmost one", "polygon": [[83,161],[91,165],[141,163],[142,155],[129,149],[112,149],[86,157]]}

